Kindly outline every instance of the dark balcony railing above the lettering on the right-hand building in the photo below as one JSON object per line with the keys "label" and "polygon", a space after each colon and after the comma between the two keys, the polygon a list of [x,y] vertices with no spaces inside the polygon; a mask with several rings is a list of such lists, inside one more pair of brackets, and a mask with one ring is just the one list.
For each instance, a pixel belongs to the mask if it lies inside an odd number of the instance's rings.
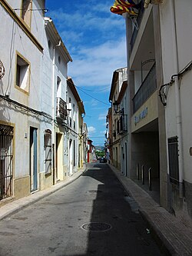
{"label": "dark balcony railing above the lettering on the right-hand building", "polygon": [[140,88],[138,89],[137,93],[134,95],[133,98],[133,111],[136,112],[141,105],[144,104],[144,101],[149,98],[153,92],[157,88],[157,81],[156,81],[156,69],[155,64],[148,72],[147,77],[142,82]]}

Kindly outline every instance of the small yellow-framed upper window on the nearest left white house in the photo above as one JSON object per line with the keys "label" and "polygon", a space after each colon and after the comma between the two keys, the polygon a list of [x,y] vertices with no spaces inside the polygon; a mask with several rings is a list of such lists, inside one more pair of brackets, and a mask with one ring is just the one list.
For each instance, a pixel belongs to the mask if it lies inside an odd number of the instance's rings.
{"label": "small yellow-framed upper window on the nearest left white house", "polygon": [[30,65],[21,55],[16,56],[16,85],[28,91],[30,81]]}

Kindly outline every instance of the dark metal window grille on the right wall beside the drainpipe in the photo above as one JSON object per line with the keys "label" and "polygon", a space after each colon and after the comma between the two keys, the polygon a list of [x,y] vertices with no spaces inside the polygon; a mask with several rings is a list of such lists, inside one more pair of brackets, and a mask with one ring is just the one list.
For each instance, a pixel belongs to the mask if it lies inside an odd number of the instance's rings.
{"label": "dark metal window grille on the right wall beside the drainpipe", "polygon": [[178,151],[178,138],[168,138],[168,157],[169,157],[169,173],[170,182],[179,184],[179,151]]}

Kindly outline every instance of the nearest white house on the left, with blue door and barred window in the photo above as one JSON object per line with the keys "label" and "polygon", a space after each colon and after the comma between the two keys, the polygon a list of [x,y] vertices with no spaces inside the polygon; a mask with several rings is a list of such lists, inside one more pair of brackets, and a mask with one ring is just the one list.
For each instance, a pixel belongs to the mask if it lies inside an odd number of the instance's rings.
{"label": "nearest white house on the left, with blue door and barred window", "polygon": [[44,8],[44,1],[0,2],[2,199],[39,188],[41,124],[51,121],[40,96]]}

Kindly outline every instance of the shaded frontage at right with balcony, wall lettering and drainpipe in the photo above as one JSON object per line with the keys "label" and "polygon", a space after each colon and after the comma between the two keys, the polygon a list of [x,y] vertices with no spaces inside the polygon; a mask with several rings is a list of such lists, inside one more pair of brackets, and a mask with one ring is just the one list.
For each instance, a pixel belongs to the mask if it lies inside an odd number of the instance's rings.
{"label": "shaded frontage at right with balcony, wall lettering and drainpipe", "polygon": [[[142,184],[141,176],[145,184],[152,181],[157,192],[154,199],[189,224],[192,220],[192,3],[190,0],[156,1],[157,5],[145,2],[137,10],[136,18],[125,15],[127,176],[137,184]],[[148,193],[152,194],[149,190]]]}

